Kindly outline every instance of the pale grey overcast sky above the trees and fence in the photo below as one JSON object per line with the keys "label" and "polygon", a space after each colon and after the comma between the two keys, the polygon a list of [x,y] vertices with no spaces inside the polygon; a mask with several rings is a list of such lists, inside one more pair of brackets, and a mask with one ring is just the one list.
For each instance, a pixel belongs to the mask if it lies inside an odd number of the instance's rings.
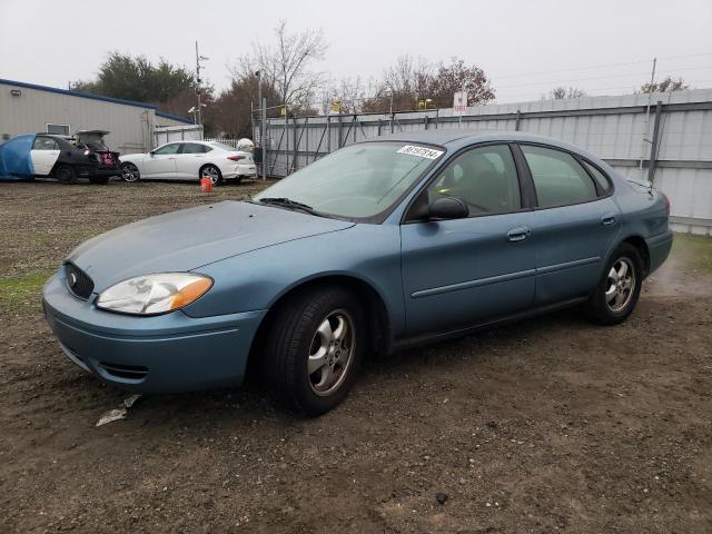
{"label": "pale grey overcast sky above the trees and fence", "polygon": [[657,57],[660,77],[712,87],[711,0],[0,0],[0,78],[66,88],[112,50],[194,68],[197,39],[221,89],[226,66],[268,42],[279,19],[324,30],[329,50],[315,68],[335,79],[377,77],[403,53],[458,56],[492,78],[497,101],[524,101],[560,85],[631,92]]}

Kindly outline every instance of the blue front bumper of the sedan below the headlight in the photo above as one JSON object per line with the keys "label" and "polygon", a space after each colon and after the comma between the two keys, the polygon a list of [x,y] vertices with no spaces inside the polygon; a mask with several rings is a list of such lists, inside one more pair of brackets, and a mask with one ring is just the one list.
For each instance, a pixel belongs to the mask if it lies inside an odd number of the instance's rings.
{"label": "blue front bumper of the sedan below the headlight", "polygon": [[137,317],[75,297],[60,273],[44,286],[47,322],[65,354],[102,382],[137,393],[179,393],[241,384],[265,310],[194,318]]}

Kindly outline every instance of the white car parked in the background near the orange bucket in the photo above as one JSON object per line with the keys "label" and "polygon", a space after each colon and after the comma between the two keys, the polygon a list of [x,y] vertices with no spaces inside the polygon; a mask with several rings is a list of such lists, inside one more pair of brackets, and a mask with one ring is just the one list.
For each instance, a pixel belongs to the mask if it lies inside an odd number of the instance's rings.
{"label": "white car parked in the background near the orange bucket", "polygon": [[257,175],[253,159],[253,141],[240,139],[239,148],[217,141],[167,142],[148,154],[121,156],[121,176],[126,181],[140,178],[164,180],[199,180],[207,176],[219,186],[224,180]]}

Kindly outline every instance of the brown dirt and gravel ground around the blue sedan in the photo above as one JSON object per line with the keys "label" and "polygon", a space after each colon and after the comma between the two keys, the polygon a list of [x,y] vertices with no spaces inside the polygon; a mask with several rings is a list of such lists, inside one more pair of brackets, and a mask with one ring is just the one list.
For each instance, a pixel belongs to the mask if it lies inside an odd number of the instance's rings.
{"label": "brown dirt and gravel ground around the blue sedan", "polygon": [[679,238],[621,326],[570,310],[369,362],[317,419],[247,385],[96,427],[126,394],[62,355],[44,279],[258,188],[0,185],[0,532],[712,532],[712,239]]}

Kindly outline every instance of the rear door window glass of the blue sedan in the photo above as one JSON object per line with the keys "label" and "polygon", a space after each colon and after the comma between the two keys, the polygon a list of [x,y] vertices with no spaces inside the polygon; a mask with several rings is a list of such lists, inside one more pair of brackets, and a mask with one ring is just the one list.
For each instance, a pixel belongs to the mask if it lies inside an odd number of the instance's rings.
{"label": "rear door window glass of the blue sedan", "polygon": [[593,180],[576,159],[562,150],[521,145],[532,172],[541,208],[587,202],[597,198]]}

